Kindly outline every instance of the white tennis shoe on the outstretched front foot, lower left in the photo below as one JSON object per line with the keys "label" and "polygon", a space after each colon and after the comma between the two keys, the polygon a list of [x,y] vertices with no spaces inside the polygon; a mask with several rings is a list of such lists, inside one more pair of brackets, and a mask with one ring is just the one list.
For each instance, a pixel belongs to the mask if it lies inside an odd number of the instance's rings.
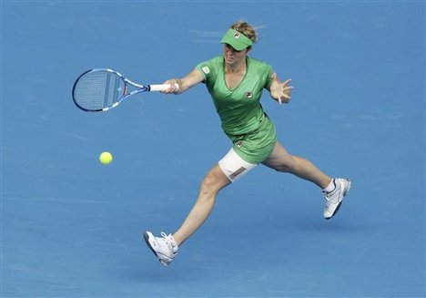
{"label": "white tennis shoe on the outstretched front foot, lower left", "polygon": [[157,256],[158,261],[164,266],[168,266],[177,255],[177,243],[172,234],[161,232],[162,237],[155,237],[150,231],[144,233],[144,239],[147,246]]}

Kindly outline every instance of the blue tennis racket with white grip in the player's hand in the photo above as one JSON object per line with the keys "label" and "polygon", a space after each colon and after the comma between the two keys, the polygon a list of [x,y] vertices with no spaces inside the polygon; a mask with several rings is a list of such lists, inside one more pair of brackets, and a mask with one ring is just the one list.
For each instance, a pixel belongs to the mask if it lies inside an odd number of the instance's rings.
{"label": "blue tennis racket with white grip in the player's hand", "polygon": [[168,87],[170,85],[167,84],[140,85],[112,69],[95,68],[77,77],[73,100],[78,108],[86,112],[104,112],[138,93],[162,91]]}

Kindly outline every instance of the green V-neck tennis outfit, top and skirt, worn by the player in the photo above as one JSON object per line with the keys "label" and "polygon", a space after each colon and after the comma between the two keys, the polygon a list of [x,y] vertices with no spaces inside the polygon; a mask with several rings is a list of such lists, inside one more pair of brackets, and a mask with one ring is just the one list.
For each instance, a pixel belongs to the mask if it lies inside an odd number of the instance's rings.
{"label": "green V-neck tennis outfit, top and skirt, worn by the player", "polygon": [[260,98],[271,84],[272,67],[247,57],[247,71],[239,85],[229,89],[221,56],[198,64],[213,98],[222,129],[238,156],[252,164],[268,158],[277,142],[275,125],[263,111]]}

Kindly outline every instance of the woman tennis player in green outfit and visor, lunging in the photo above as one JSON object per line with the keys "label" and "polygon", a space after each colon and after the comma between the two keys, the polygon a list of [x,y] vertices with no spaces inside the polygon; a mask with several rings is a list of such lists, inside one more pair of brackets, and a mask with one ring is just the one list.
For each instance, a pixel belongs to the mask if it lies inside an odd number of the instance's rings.
{"label": "woman tennis player in green outfit and visor, lunging", "polygon": [[279,104],[289,103],[293,87],[289,86],[290,79],[281,82],[271,66],[248,56],[257,39],[253,26],[238,21],[221,40],[224,45],[222,56],[198,64],[186,77],[165,82],[171,85],[163,92],[166,94],[181,94],[199,83],[206,84],[222,129],[232,141],[228,154],[202,181],[198,200],[181,227],[173,234],[162,232],[162,237],[145,232],[148,247],[165,266],[174,260],[179,245],[208,219],[219,190],[259,164],[294,174],[319,186],[326,200],[326,219],[339,210],[343,197],[350,190],[350,180],[331,179],[309,160],[289,154],[277,140],[275,125],[264,112],[260,97],[263,89],[267,89],[270,97]]}

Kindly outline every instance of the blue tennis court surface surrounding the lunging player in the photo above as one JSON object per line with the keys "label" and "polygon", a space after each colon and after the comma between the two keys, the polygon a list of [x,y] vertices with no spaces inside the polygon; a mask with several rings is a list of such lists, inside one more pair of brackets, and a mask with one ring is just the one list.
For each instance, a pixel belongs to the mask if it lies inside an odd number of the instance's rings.
{"label": "blue tennis court surface surrounding the lunging player", "polygon": [[[1,2],[1,297],[424,297],[424,1]],[[143,231],[172,232],[230,148],[204,86],[85,113],[83,71],[139,83],[220,55],[243,18],[252,57],[295,87],[267,92],[279,140],[352,188],[258,167],[161,266]],[[114,162],[99,163],[110,151]]]}

